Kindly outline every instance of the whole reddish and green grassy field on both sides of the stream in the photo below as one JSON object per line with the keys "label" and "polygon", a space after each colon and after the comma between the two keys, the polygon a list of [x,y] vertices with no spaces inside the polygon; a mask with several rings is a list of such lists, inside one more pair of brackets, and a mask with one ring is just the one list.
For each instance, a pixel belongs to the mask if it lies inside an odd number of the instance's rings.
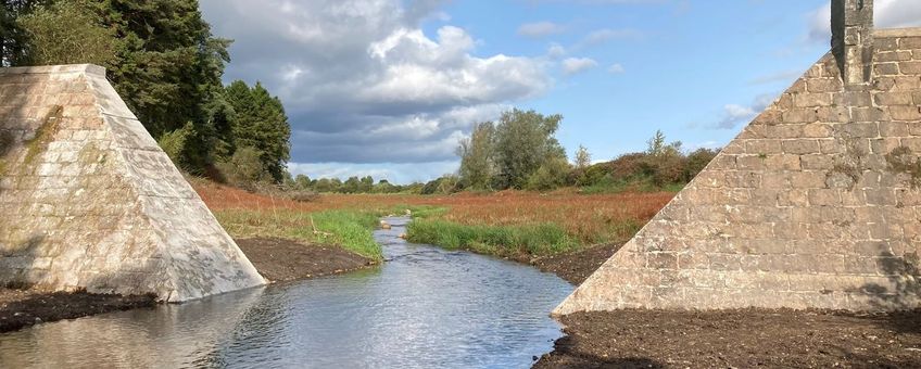
{"label": "whole reddish and green grassy field on both sides of the stream", "polygon": [[[543,256],[623,241],[674,195],[503,191],[454,195],[325,194],[312,202],[249,193],[203,180],[193,187],[234,237],[336,243],[379,258],[377,217],[412,209],[414,242],[485,254]],[[315,232],[316,231],[316,232]]]}

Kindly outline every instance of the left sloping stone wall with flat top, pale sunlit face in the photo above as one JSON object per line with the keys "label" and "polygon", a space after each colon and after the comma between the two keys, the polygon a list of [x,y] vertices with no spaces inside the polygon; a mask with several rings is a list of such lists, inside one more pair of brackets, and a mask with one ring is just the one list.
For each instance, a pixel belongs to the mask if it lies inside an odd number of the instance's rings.
{"label": "left sloping stone wall with flat top, pale sunlit face", "polygon": [[104,68],[0,68],[0,285],[178,303],[264,283]]}

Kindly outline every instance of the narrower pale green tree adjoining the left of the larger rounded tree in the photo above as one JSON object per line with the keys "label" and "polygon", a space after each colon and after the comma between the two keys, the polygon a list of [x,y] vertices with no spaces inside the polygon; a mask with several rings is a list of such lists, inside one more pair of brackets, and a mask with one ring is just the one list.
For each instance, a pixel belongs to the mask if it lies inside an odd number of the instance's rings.
{"label": "narrower pale green tree adjoining the left of the larger rounded tree", "polygon": [[493,140],[495,128],[491,122],[474,126],[470,138],[460,141],[460,179],[465,187],[487,190],[495,175]]}

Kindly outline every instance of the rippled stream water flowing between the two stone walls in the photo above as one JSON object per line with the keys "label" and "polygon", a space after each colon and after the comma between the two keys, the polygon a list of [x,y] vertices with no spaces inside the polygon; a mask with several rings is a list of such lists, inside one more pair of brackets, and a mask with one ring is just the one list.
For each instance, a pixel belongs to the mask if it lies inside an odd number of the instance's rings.
{"label": "rippled stream water flowing between the two stone walls", "polygon": [[562,335],[554,275],[376,232],[383,266],[0,335],[0,367],[527,368]]}

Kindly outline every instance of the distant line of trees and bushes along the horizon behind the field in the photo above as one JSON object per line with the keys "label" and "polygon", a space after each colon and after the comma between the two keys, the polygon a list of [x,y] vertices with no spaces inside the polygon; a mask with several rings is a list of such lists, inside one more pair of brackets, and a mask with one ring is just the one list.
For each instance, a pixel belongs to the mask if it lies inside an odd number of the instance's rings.
{"label": "distant line of trees and bushes along the horizon behind the field", "polygon": [[543,115],[514,109],[496,122],[476,124],[470,137],[460,141],[460,168],[426,183],[375,183],[370,176],[340,179],[289,179],[290,188],[338,193],[449,194],[460,191],[508,189],[552,191],[579,188],[583,193],[622,191],[677,191],[693,179],[718,154],[718,150],[686,151],[680,141],[668,142],[656,131],[642,152],[626,153],[593,163],[580,145],[570,163],[555,135],[560,115]]}

